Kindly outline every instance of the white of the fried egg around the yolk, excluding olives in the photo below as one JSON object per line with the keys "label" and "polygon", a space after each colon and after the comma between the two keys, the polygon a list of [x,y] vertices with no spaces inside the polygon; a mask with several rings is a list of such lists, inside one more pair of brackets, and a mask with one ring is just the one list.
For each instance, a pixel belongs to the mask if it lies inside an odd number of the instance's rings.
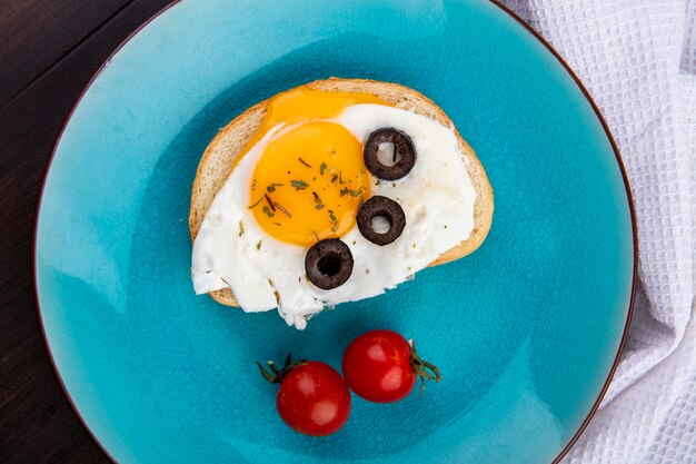
{"label": "white of the fried egg around the yolk, excluding olives", "polygon": [[334,121],[361,144],[384,127],[411,138],[416,164],[406,177],[396,181],[371,177],[371,194],[389,197],[404,209],[406,227],[401,236],[378,246],[354,227],[340,237],[355,260],[349,279],[330,290],[308,282],[307,249],[266,234],[248,208],[251,176],[266,146],[291,129],[278,125],[239,161],[202,221],[192,251],[197,294],[230,287],[245,312],[277,307],[288,325],[302,329],[307,319],[325,307],[380,295],[469,237],[476,190],[453,128],[381,105],[350,106]]}

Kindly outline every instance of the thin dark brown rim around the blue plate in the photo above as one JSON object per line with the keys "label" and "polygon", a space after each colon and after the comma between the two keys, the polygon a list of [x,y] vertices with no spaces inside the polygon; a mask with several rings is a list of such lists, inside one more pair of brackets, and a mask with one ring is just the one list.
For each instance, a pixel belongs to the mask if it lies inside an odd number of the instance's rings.
{"label": "thin dark brown rim around the blue plate", "polygon": [[[90,78],[89,82],[81,90],[81,92],[80,92],[79,97],[77,98],[77,100],[74,100],[74,102],[72,103],[72,107],[70,108],[70,111],[66,116],[66,118],[64,118],[64,120],[62,122],[62,126],[60,128],[60,131],[58,132],[58,136],[56,137],[56,141],[53,144],[53,148],[51,149],[51,154],[49,156],[48,162],[47,162],[47,165],[46,165],[46,167],[43,169],[43,174],[41,176],[41,184],[40,184],[39,192],[38,192],[39,195],[37,197],[37,203],[36,203],[36,206],[34,206],[34,211],[36,213],[34,213],[34,217],[33,217],[32,236],[31,236],[32,293],[33,293],[33,300],[34,300],[34,312],[36,312],[37,320],[39,323],[39,332],[41,334],[42,345],[43,345],[43,348],[46,351],[46,354],[48,355],[48,359],[50,362],[51,369],[53,371],[53,375],[58,379],[58,384],[60,385],[62,394],[63,394],[64,398],[68,401],[68,403],[70,404],[70,407],[71,407],[73,414],[76,415],[76,417],[78,418],[78,422],[82,426],[82,430],[84,430],[89,434],[89,436],[92,438],[92,442],[95,442],[97,444],[97,446],[101,450],[101,452],[113,463],[118,463],[118,461],[113,457],[113,455],[107,450],[106,445],[101,443],[101,441],[97,437],[97,435],[89,427],[89,425],[87,424],[87,421],[84,421],[84,418],[82,417],[80,411],[78,409],[77,405],[74,404],[72,397],[70,396],[70,393],[68,393],[68,388],[67,388],[67,386],[66,386],[66,384],[64,384],[64,382],[63,382],[63,379],[62,379],[62,377],[60,375],[60,372],[58,371],[58,366],[56,364],[56,359],[53,358],[53,354],[51,352],[51,347],[50,347],[49,342],[48,342],[48,337],[47,337],[47,333],[46,333],[46,325],[43,324],[43,317],[41,316],[41,306],[40,306],[40,303],[39,303],[39,283],[38,283],[38,273],[37,273],[37,270],[38,270],[37,244],[38,244],[39,216],[41,214],[41,205],[43,203],[43,194],[44,194],[44,190],[46,190],[46,182],[48,180],[48,176],[49,176],[49,172],[51,170],[51,166],[53,165],[53,159],[56,157],[56,152],[58,151],[58,146],[60,145],[60,141],[61,141],[61,139],[63,137],[63,134],[64,134],[66,129],[68,128],[68,125],[70,124],[70,120],[72,119],[72,116],[74,115],[74,111],[80,106],[82,99],[87,95],[87,91],[92,87],[95,81],[103,72],[103,70],[107,68],[107,66],[109,66],[109,63],[111,62],[113,57],[126,45],[128,45],[128,42],[130,42],[133,39],[133,37],[136,37],[138,33],[140,33],[140,31],[142,31],[145,28],[150,26],[150,23],[152,21],[155,21],[157,18],[159,18],[160,16],[162,16],[163,13],[169,11],[172,7],[176,7],[177,4],[182,3],[182,1],[183,0],[173,0],[171,3],[167,4],[166,7],[160,9],[158,12],[152,14],[147,21],[145,21],[143,23],[138,26],[138,28],[136,28],[136,30],[133,30],[131,33],[129,33],[128,37],[126,37],[126,39],[123,39],[118,45],[118,47],[115,48],[111,53],[109,53],[109,57],[95,71],[95,73]],[[616,369],[618,368],[618,365],[619,365],[619,362],[620,362],[620,357],[622,357],[622,354],[624,352],[624,348],[625,348],[625,345],[626,345],[626,340],[628,338],[628,329],[630,327],[630,323],[632,323],[633,315],[634,315],[634,307],[635,307],[635,300],[636,300],[636,285],[637,285],[637,277],[638,277],[638,229],[637,229],[637,224],[636,224],[636,211],[635,211],[635,208],[634,208],[634,199],[633,199],[633,194],[632,194],[632,189],[630,189],[630,182],[628,180],[628,175],[626,172],[626,167],[624,166],[624,161],[623,161],[622,155],[619,152],[618,146],[616,144],[616,140],[614,139],[614,136],[612,135],[612,130],[609,129],[608,124],[606,122],[604,116],[601,115],[601,111],[599,110],[599,107],[597,106],[597,103],[593,99],[591,95],[589,93],[589,91],[587,90],[587,88],[585,87],[585,85],[583,83],[580,78],[575,73],[573,68],[566,62],[566,60],[560,56],[560,53],[558,53],[558,51],[556,51],[556,49],[554,49],[554,47],[539,32],[537,32],[531,26],[526,23],[515,11],[513,11],[511,9],[509,9],[508,7],[503,4],[500,2],[500,0],[487,0],[487,1],[489,3],[491,3],[493,6],[497,7],[504,14],[509,16],[517,23],[523,26],[523,28],[526,29],[527,32],[529,32],[537,41],[539,41],[551,53],[551,56],[556,59],[556,61],[558,61],[560,63],[560,66],[563,66],[565,71],[573,78],[573,80],[575,81],[576,86],[583,92],[583,96],[589,102],[593,111],[595,112],[595,116],[599,120],[599,124],[601,125],[601,128],[604,129],[604,132],[607,136],[607,138],[609,140],[609,144],[612,146],[612,151],[614,151],[614,155],[616,157],[616,162],[618,164],[618,168],[620,170],[622,179],[624,181],[624,187],[625,187],[625,190],[626,190],[626,200],[628,203],[628,210],[629,210],[629,216],[630,216],[632,241],[633,241],[633,272],[632,272],[632,283],[630,283],[630,298],[629,298],[629,302],[628,302],[628,308],[627,308],[627,314],[626,314],[626,323],[624,325],[624,332],[622,334],[622,339],[619,342],[619,346],[618,346],[616,356],[614,357],[614,362],[612,363],[612,368],[609,369],[609,373],[607,374],[607,378],[605,379],[605,382],[604,382],[604,384],[601,386],[601,389],[599,391],[599,394],[598,394],[597,398],[593,403],[593,406],[590,407],[589,412],[587,413],[587,415],[583,419],[579,428],[576,431],[576,433],[573,435],[573,437],[566,444],[566,446],[564,446],[564,448],[558,453],[558,455],[550,463],[550,464],[559,464],[560,461],[564,458],[564,456],[577,443],[579,437],[583,435],[583,432],[585,432],[585,430],[587,428],[587,425],[589,425],[589,423],[591,422],[593,417],[597,413],[597,409],[599,408],[599,405],[601,404],[601,401],[604,399],[604,397],[605,397],[605,395],[606,395],[606,393],[607,393],[607,391],[609,388],[609,385],[612,384],[612,381],[614,379],[614,375],[616,374]]]}

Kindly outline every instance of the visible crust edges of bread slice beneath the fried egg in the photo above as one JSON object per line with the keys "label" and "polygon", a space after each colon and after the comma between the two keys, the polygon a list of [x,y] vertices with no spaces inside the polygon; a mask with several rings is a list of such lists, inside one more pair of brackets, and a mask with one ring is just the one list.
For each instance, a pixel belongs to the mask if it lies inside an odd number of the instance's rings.
{"label": "visible crust edges of bread slice beneath the fried egg", "polygon": [[[366,79],[317,80],[307,85],[311,89],[341,92],[368,92],[418,115],[435,119],[443,126],[451,127],[459,139],[461,155],[468,160],[467,171],[476,189],[477,198],[474,205],[474,230],[466,240],[441,254],[430,266],[459,259],[478,248],[490,229],[493,220],[493,189],[488,182],[486,171],[469,145],[459,136],[453,121],[432,100],[422,93],[398,83],[379,82]],[[200,225],[212,204],[212,200],[232,171],[235,159],[239,156],[249,139],[260,126],[267,111],[267,101],[261,101],[247,109],[225,126],[210,141],[198,165],[196,180],[191,191],[191,209],[189,213],[189,229],[191,241],[200,229]],[[229,288],[210,293],[218,303],[228,306],[239,306]]]}

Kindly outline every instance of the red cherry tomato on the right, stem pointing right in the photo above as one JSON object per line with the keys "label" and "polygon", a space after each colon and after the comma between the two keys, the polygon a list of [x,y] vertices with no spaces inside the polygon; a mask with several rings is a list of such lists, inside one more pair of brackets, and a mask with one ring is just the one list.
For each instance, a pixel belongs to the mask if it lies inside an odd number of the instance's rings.
{"label": "red cherry tomato on the right, stem pointing right", "polygon": [[370,330],[354,339],[344,353],[342,371],[350,389],[375,403],[402,399],[418,377],[424,385],[425,378],[441,378],[437,367],[420,359],[406,338],[392,330]]}

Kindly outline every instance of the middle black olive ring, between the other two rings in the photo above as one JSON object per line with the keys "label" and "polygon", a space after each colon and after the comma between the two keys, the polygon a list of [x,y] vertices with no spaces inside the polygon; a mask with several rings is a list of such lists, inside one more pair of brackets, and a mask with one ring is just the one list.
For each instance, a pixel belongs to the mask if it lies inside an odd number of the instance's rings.
{"label": "middle black olive ring, between the other two rings", "polygon": [[[384,217],[389,221],[387,231],[380,234],[375,230],[372,219],[376,217]],[[360,206],[356,221],[362,237],[375,245],[385,246],[399,238],[406,227],[406,215],[401,206],[391,198],[375,195]]]}

